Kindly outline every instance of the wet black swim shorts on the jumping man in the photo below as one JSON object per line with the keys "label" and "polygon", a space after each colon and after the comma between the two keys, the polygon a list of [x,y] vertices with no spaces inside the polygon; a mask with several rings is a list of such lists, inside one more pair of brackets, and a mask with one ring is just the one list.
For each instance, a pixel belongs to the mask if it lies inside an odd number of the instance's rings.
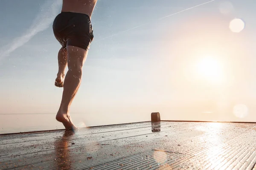
{"label": "wet black swim shorts on the jumping man", "polygon": [[67,45],[89,50],[93,27],[87,14],[61,12],[53,21],[53,33],[63,48]]}

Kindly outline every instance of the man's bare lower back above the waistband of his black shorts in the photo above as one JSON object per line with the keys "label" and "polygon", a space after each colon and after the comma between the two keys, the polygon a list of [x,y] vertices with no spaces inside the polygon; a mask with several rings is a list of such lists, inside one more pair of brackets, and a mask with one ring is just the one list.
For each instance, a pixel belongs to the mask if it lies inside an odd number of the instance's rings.
{"label": "man's bare lower back above the waistband of his black shorts", "polygon": [[63,0],[62,12],[77,12],[92,16],[97,0]]}

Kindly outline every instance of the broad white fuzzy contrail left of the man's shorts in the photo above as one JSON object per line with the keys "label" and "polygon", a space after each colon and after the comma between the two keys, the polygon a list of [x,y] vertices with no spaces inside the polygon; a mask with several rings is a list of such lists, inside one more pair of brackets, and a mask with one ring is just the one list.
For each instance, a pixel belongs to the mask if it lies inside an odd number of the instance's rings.
{"label": "broad white fuzzy contrail left of the man's shorts", "polygon": [[48,0],[44,3],[28,30],[22,36],[15,38],[11,43],[0,48],[0,61],[28,42],[38,32],[46,30],[59,13],[61,4],[62,0]]}

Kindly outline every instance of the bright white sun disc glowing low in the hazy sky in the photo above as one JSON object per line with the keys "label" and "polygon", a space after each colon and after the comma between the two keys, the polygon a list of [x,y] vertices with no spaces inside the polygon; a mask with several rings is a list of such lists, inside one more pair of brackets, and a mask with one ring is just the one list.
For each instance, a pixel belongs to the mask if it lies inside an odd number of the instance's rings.
{"label": "bright white sun disc glowing low in the hazy sky", "polygon": [[201,58],[197,65],[198,75],[210,82],[221,82],[222,68],[220,62],[215,57]]}

